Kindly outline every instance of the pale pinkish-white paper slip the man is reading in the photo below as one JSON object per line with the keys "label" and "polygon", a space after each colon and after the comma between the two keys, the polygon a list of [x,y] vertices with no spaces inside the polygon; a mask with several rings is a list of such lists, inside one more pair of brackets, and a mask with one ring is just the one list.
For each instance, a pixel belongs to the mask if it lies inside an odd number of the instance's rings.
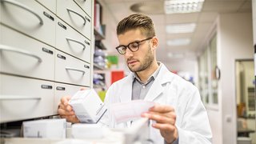
{"label": "pale pinkish-white paper slip the man is reading", "polygon": [[115,122],[128,122],[137,118],[141,118],[141,114],[148,112],[150,107],[154,106],[154,102],[143,100],[134,100],[130,102],[119,102],[110,105],[110,114],[112,114]]}

